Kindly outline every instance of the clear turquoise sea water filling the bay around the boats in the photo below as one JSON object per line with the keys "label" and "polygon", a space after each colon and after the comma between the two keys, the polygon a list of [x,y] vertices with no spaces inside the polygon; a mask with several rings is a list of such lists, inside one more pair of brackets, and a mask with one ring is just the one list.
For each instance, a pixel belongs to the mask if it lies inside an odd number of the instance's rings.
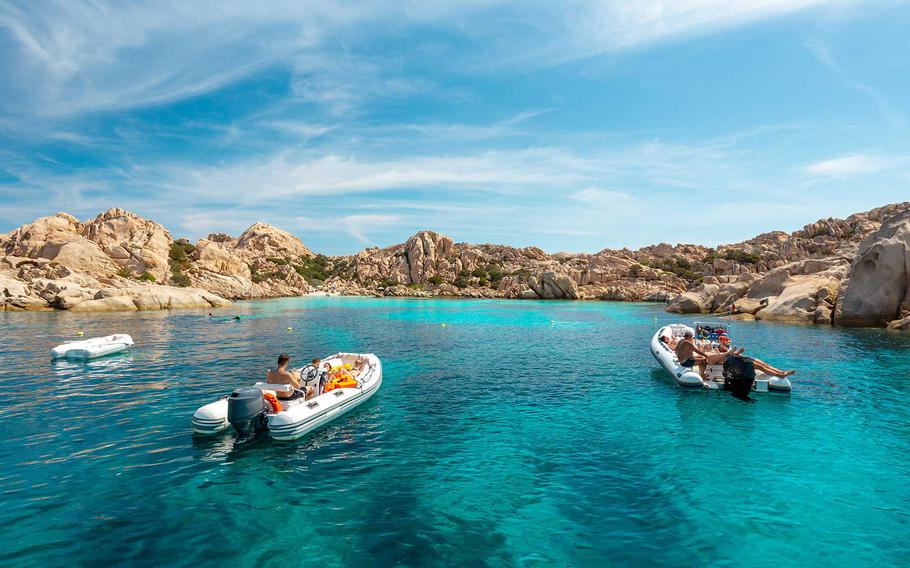
{"label": "clear turquoise sea water filling the bay around the boats", "polygon": [[[0,314],[0,565],[910,558],[910,334],[737,323],[799,369],[792,395],[743,403],[657,370],[648,340],[679,319],[657,305],[301,298],[218,315]],[[79,330],[137,345],[50,362]],[[384,365],[352,414],[293,443],[193,436],[198,406],[278,352],[339,350]]]}

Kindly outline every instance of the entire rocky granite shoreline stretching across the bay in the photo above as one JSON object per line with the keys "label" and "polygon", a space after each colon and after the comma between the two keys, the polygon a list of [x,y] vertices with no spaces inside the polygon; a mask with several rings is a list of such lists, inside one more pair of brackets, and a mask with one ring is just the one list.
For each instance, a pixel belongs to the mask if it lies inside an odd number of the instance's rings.
{"label": "entire rocky granite shoreline stretching across the bay", "polygon": [[256,223],[238,237],[174,240],[114,208],[58,213],[0,235],[3,310],[213,308],[314,291],[392,297],[668,302],[678,313],[910,329],[910,203],[717,248],[549,254],[421,231],[356,255],[314,253]]}

